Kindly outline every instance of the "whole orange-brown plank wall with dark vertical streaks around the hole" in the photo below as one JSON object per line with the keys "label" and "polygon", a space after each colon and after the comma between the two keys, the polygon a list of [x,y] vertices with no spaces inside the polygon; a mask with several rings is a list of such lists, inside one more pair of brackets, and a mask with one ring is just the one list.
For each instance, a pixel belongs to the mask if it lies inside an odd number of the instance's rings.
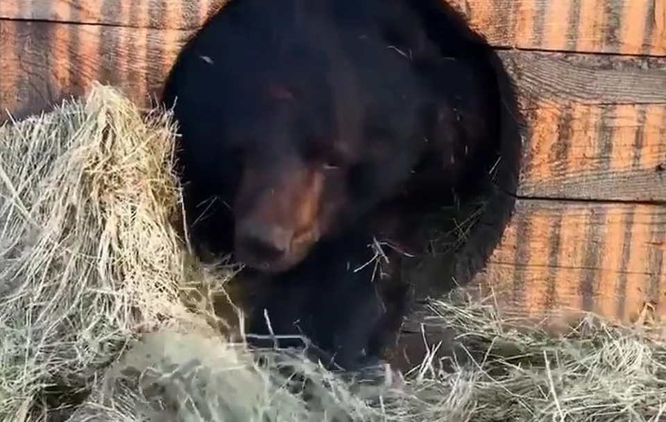
{"label": "whole orange-brown plank wall with dark vertical streaks around the hole", "polygon": [[[1,0],[0,109],[94,80],[146,101],[221,1]],[[514,316],[666,315],[666,0],[450,1],[498,47],[532,126],[482,291]]]}

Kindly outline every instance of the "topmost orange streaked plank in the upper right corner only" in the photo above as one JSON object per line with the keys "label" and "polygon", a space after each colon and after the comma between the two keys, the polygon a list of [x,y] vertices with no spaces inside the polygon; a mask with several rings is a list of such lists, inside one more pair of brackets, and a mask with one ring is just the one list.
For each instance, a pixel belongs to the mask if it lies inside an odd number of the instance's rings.
{"label": "topmost orange streaked plank in the upper right corner only", "polygon": [[490,44],[666,55],[664,0],[449,0]]}

